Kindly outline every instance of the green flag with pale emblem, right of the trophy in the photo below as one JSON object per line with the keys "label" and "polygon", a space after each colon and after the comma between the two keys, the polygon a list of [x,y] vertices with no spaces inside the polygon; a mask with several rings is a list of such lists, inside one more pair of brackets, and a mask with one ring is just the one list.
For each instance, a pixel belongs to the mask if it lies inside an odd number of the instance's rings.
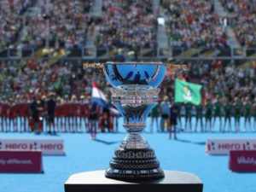
{"label": "green flag with pale emblem, right of the trophy", "polygon": [[191,102],[195,105],[201,103],[201,84],[192,84],[180,79],[175,79],[174,102]]}

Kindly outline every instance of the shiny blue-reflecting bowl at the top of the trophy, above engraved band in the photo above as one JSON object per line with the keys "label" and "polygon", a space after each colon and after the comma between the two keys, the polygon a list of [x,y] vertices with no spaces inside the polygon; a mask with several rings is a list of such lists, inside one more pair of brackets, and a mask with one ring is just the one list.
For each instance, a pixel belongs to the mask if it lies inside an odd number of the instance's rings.
{"label": "shiny blue-reflecting bowl at the top of the trophy, above engraved band", "polygon": [[158,62],[107,62],[104,73],[113,87],[125,84],[157,87],[165,77],[166,65]]}

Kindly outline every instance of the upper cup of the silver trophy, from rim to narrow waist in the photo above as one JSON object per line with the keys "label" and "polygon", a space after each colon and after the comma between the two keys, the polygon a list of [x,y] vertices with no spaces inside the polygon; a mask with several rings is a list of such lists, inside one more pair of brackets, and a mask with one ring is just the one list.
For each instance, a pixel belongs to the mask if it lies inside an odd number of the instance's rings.
{"label": "upper cup of the silver trophy, from rim to narrow waist", "polygon": [[158,102],[159,88],[166,65],[160,62],[107,62],[104,73],[111,89],[112,102],[124,118],[127,130],[146,126],[148,113]]}

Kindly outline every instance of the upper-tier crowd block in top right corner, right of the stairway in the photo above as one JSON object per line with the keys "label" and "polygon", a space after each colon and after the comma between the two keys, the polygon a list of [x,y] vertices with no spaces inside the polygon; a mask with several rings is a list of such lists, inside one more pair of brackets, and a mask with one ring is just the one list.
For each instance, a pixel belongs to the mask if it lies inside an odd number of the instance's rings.
{"label": "upper-tier crowd block in top right corner, right of the stairway", "polygon": [[256,2],[254,0],[221,0],[224,8],[233,16],[236,38],[246,47],[256,47]]}

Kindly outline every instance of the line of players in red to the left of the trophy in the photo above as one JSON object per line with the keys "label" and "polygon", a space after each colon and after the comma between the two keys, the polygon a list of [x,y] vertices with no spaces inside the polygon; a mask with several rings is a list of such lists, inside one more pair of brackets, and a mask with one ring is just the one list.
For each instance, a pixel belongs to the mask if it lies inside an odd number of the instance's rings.
{"label": "line of players in red to the left of the trophy", "polygon": [[[106,113],[104,108],[96,108],[92,115],[90,99],[79,99],[68,96],[64,99],[54,96],[33,97],[27,100],[17,96],[15,101],[2,98],[0,100],[0,131],[4,132],[90,132],[90,121],[96,121],[100,131],[118,130],[116,117]],[[102,115],[101,115],[102,114]],[[93,118],[90,118],[92,117]]]}

